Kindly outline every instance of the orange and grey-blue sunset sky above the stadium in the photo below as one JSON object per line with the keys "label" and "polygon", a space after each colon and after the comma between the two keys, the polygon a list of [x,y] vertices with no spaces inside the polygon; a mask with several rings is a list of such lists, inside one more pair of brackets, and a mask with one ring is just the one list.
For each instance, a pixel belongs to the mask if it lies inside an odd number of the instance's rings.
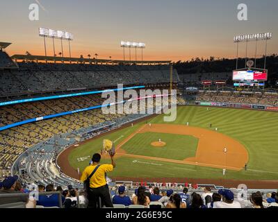
{"label": "orange and grey-blue sunset sky above the stadium", "polygon": [[[30,21],[31,3],[40,2],[39,21]],[[234,35],[272,32],[268,54],[278,53],[277,0],[3,0],[0,13],[0,42],[12,42],[10,56],[29,51],[44,55],[38,28],[74,34],[72,56],[123,59],[120,41],[145,42],[145,60],[188,60],[209,56],[234,58]],[[237,6],[248,7],[248,21],[238,21]],[[56,40],[56,54],[60,41]],[[240,44],[240,56],[245,45]],[[68,44],[64,42],[68,56]],[[128,51],[126,50],[126,53]],[[264,53],[264,44],[258,54]],[[47,55],[53,56],[52,40]],[[134,58],[134,51],[132,51]],[[248,56],[254,56],[254,42]]]}

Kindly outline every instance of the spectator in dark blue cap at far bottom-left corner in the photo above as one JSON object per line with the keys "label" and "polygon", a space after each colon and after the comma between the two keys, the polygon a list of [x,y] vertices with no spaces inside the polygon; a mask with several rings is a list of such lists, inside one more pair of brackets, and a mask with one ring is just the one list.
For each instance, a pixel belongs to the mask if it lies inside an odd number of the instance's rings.
{"label": "spectator in dark blue cap at far bottom-left corner", "polygon": [[[18,176],[8,176],[2,182],[3,189],[0,190],[1,194],[22,194],[20,191],[15,191],[16,182],[18,180]],[[35,200],[30,200],[28,196],[13,196],[13,197],[5,197],[0,198],[0,205],[8,204],[8,203],[17,203],[24,202],[26,205],[31,205],[31,207],[35,208]]]}

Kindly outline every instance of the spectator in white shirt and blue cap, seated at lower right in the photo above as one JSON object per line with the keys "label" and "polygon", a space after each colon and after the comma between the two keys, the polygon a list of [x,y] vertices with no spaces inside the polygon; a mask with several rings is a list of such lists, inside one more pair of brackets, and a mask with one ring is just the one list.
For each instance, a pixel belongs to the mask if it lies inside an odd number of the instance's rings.
{"label": "spectator in white shirt and blue cap, seated at lower right", "polygon": [[222,201],[213,204],[213,208],[241,208],[238,201],[234,201],[234,193],[229,189],[220,189],[218,194],[222,196]]}

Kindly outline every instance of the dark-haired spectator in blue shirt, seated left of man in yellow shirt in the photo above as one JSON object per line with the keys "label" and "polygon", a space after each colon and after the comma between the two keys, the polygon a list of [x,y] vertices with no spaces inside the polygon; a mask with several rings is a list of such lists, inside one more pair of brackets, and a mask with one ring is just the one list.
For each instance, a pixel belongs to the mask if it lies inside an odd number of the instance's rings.
{"label": "dark-haired spectator in blue shirt, seated left of man in yellow shirt", "polygon": [[[54,185],[47,185],[46,191],[47,192],[55,191]],[[59,196],[58,194],[40,195],[40,198],[37,201],[37,205],[41,205],[44,207],[60,207]]]}

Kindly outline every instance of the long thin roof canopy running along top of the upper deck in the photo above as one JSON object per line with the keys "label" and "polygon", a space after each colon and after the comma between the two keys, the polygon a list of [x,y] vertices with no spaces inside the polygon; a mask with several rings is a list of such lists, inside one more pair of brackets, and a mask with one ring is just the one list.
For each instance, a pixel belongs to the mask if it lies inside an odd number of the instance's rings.
{"label": "long thin roof canopy running along top of the upper deck", "polygon": [[60,57],[60,56],[33,56],[33,55],[14,55],[11,57],[13,60],[34,60],[39,61],[55,61],[55,62],[76,62],[76,63],[97,63],[97,64],[145,64],[145,65],[155,65],[155,64],[170,64],[171,60],[104,60],[95,58],[70,58],[70,57]]}

